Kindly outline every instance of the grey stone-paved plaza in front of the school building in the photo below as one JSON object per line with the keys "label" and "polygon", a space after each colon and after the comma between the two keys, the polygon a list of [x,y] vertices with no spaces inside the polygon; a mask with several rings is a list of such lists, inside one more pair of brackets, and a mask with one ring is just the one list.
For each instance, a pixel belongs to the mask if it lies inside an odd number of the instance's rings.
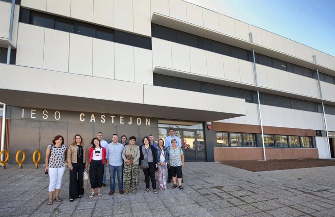
{"label": "grey stone-paved plaza in front of the school building", "polygon": [[[0,168],[0,216],[17,217],[285,217],[335,216],[335,166],[250,172],[215,162],[186,162],[184,191],[178,187],[155,195],[145,189],[140,171],[136,195],[84,197],[69,202],[69,172],[63,176],[62,202],[47,205],[49,176],[34,165]],[[108,172],[107,172],[108,176]],[[158,187],[157,187],[158,188]]]}

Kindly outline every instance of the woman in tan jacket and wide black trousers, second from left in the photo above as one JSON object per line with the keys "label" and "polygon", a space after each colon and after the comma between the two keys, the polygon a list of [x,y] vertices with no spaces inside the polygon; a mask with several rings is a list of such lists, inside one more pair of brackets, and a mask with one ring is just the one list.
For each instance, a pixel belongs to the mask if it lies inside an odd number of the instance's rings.
{"label": "woman in tan jacket and wide black trousers, second from left", "polygon": [[88,166],[87,149],[81,135],[73,137],[68,146],[67,165],[70,171],[69,198],[73,202],[84,195],[84,169]]}

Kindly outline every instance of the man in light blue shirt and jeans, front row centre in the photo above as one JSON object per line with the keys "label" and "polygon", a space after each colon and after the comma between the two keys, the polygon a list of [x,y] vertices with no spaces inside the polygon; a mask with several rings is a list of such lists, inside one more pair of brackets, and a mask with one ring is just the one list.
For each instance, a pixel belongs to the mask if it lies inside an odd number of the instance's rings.
{"label": "man in light blue shirt and jeans, front row centre", "polygon": [[111,191],[109,195],[114,194],[115,190],[115,172],[117,172],[118,192],[123,194],[123,180],[122,180],[122,169],[123,169],[123,145],[119,143],[117,134],[113,134],[112,142],[107,145],[106,156],[109,160],[109,174],[111,178]]}

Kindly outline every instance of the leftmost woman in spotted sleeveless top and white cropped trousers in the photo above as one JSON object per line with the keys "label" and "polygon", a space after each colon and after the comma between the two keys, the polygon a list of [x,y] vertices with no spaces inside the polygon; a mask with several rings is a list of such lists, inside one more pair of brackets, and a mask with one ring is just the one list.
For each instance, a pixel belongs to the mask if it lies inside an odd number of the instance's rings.
{"label": "leftmost woman in spotted sleeveless top and white cropped trousers", "polygon": [[49,172],[49,201],[52,204],[53,191],[55,191],[55,201],[61,202],[59,190],[62,185],[62,178],[65,171],[65,157],[67,155],[67,146],[64,145],[63,136],[55,136],[52,144],[48,145],[45,155],[45,172]]}

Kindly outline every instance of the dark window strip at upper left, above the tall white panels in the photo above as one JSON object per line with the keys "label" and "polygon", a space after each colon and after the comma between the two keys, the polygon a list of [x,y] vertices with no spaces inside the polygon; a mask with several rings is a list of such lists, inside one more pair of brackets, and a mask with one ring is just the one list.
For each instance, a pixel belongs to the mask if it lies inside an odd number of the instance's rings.
{"label": "dark window strip at upper left, above the tall white panels", "polygon": [[151,38],[149,37],[84,23],[74,19],[35,12],[28,9],[20,9],[19,21],[49,29],[66,31],[134,47],[151,49]]}

